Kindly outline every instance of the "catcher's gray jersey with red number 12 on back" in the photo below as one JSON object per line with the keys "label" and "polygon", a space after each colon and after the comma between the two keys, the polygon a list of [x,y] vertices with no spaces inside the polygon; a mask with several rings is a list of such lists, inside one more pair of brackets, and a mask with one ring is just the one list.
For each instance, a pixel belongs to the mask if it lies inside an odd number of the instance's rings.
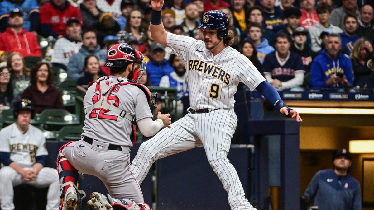
{"label": "catcher's gray jersey with red number 12 on back", "polygon": [[[107,77],[107,85],[117,78]],[[100,83],[93,83],[87,90],[83,106],[88,107],[100,101],[100,98]],[[107,102],[131,115],[135,115],[137,121],[146,117],[153,117],[144,92],[132,84],[116,84],[108,93]],[[97,139],[99,142],[131,147],[131,126],[132,122],[130,120],[120,117],[115,112],[95,108],[86,114],[82,135]]]}

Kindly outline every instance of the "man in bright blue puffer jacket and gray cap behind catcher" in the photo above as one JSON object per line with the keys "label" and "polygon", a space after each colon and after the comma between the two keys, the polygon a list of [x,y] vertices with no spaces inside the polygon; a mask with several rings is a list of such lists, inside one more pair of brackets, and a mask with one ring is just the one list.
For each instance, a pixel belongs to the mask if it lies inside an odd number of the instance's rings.
{"label": "man in bright blue puffer jacket and gray cap behind catcher", "polygon": [[174,68],[169,65],[165,57],[165,47],[153,41],[150,45],[150,61],[147,62],[147,74],[151,86],[160,86],[161,77],[174,72]]}

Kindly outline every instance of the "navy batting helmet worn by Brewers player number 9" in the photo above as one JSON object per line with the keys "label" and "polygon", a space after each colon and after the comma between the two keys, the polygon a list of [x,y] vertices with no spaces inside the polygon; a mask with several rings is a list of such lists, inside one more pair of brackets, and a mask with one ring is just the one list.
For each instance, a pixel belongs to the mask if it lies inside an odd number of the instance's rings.
{"label": "navy batting helmet worn by Brewers player number 9", "polygon": [[220,10],[210,10],[203,14],[201,24],[197,28],[217,29],[217,37],[223,39],[229,34],[229,18]]}

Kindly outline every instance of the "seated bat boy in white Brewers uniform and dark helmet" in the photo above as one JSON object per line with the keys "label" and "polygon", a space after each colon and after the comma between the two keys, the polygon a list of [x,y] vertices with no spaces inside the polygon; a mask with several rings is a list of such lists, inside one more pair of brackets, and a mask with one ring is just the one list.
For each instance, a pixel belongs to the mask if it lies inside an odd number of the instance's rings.
{"label": "seated bat boy in white Brewers uniform and dark helmet", "polygon": [[0,203],[2,210],[14,209],[13,186],[27,183],[46,188],[46,210],[56,210],[60,204],[56,169],[43,167],[48,155],[43,132],[30,125],[35,116],[31,101],[21,99],[14,106],[16,122],[0,131]]}

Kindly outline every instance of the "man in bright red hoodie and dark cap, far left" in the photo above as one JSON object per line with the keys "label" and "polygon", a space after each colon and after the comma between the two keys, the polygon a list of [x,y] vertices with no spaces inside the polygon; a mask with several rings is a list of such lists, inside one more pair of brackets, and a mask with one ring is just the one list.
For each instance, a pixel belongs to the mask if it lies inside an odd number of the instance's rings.
{"label": "man in bright red hoodie and dark cap, far left", "polygon": [[13,9],[9,13],[9,27],[0,34],[0,50],[19,52],[25,56],[42,56],[36,35],[23,28],[24,17],[21,10]]}

